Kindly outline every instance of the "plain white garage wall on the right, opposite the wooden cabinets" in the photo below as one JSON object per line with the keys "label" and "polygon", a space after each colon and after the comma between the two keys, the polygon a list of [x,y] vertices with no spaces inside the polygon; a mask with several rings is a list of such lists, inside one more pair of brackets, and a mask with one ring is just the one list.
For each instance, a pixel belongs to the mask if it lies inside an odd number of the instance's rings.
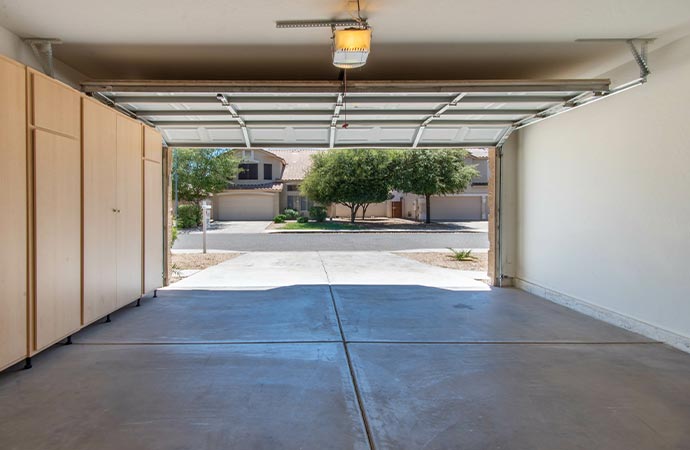
{"label": "plain white garage wall on the right, opposite the wooden cabinets", "polygon": [[519,133],[513,263],[523,288],[690,351],[690,38],[650,60],[646,85]]}

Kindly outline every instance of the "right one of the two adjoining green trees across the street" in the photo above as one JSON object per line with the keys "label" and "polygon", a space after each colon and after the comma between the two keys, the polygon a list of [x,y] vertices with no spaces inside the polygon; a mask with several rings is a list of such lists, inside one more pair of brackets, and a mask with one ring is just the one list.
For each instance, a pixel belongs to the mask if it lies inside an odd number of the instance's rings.
{"label": "right one of the two adjoining green trees across the street", "polygon": [[400,153],[393,187],[426,198],[426,223],[431,223],[431,196],[462,192],[479,175],[465,164],[462,149],[413,149]]}

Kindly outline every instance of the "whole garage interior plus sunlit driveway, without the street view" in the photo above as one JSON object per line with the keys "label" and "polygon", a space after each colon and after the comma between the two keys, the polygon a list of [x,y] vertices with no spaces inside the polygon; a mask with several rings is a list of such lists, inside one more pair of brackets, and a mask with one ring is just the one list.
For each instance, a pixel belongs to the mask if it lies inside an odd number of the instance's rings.
{"label": "whole garage interior plus sunlit driveway, without the street view", "polygon": [[[3,448],[690,447],[690,4],[361,2],[346,86],[275,26],[357,3],[0,0]],[[175,146],[488,147],[492,286],[324,249],[163,288]]]}

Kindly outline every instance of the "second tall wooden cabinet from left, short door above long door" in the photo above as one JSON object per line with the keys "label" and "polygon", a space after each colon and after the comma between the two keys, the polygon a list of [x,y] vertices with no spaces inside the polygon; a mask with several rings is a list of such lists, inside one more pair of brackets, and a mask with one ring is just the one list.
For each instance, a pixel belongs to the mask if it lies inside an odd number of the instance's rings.
{"label": "second tall wooden cabinet from left, short door above long door", "polygon": [[81,96],[32,69],[27,75],[33,354],[81,326]]}

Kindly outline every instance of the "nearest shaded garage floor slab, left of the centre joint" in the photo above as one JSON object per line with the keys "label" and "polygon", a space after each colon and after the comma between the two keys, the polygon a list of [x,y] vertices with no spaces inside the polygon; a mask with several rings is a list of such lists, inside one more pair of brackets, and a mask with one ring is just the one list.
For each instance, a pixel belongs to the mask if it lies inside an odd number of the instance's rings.
{"label": "nearest shaded garage floor slab, left of the centre joint", "polygon": [[368,449],[342,345],[72,345],[0,376],[13,450]]}

